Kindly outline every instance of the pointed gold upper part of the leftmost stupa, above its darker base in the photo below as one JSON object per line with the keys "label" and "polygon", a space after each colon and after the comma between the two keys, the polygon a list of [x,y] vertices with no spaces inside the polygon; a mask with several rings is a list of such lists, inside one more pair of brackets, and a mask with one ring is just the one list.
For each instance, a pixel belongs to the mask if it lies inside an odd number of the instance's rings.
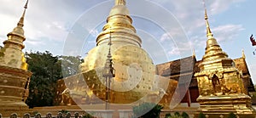
{"label": "pointed gold upper part of the leftmost stupa, above its darker base", "polygon": [[13,31],[9,32],[7,35],[8,39],[3,42],[4,47],[0,52],[1,65],[27,70],[26,59],[24,58],[24,53],[22,53],[22,49],[25,48],[23,42],[26,40],[23,26],[27,4],[28,0],[26,0],[23,14],[17,26]]}

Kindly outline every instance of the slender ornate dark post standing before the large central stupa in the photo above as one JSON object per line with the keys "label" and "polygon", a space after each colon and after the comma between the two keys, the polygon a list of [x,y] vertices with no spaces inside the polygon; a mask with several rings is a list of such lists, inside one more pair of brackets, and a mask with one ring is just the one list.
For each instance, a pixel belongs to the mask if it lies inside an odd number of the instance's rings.
{"label": "slender ornate dark post standing before the large central stupa", "polygon": [[111,55],[111,31],[109,33],[109,42],[108,42],[109,48],[108,48],[108,56],[105,63],[105,66],[102,71],[102,76],[106,79],[106,103],[105,103],[105,109],[109,109],[109,94],[110,94],[110,82],[111,78],[115,76],[114,69],[113,69],[113,62],[112,62],[112,55]]}

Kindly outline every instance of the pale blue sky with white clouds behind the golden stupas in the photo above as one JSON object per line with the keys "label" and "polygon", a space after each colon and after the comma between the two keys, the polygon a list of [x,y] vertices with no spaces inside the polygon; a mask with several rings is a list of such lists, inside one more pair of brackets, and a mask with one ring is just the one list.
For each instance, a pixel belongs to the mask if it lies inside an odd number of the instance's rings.
{"label": "pale blue sky with white clouds behind the golden stupas", "polygon": [[[0,2],[0,42],[3,42],[15,28],[26,1]],[[113,0],[30,0],[24,51],[86,56],[84,53],[96,46],[96,36],[113,3]],[[126,3],[137,34],[142,37],[143,48],[155,64],[187,57],[193,48],[196,59],[202,58],[207,37],[201,0],[126,0]],[[249,37],[251,34],[256,37],[255,4],[254,0],[206,0],[214,37],[231,59],[240,58],[244,49],[254,83],[256,47],[251,46]]]}

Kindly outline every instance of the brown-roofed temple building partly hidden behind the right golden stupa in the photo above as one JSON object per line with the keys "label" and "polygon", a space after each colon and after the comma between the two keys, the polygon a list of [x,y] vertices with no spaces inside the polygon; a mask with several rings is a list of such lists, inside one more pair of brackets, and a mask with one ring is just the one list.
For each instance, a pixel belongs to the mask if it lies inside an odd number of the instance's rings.
{"label": "brown-roofed temple building partly hidden behind the right golden stupa", "polygon": [[[189,90],[187,91],[182,100],[182,103],[187,103],[188,106],[190,106],[190,104],[197,103],[196,98],[199,97],[198,83],[194,75],[195,73],[200,72],[200,68],[198,65],[201,64],[201,61],[202,60],[197,60],[195,58],[195,55],[193,55],[187,58],[177,59],[160,65],[156,65],[156,73],[160,76],[169,77],[170,79],[176,81],[178,81],[180,78],[191,80],[189,84]],[[254,93],[255,89],[253,87],[253,81],[247,67],[245,54],[242,52],[241,58],[233,59],[233,61],[236,65],[236,68],[242,73],[241,77],[244,87],[246,89],[246,93]],[[193,68],[190,67],[187,70],[179,70],[181,63],[183,63],[183,65],[189,66],[193,65]]]}

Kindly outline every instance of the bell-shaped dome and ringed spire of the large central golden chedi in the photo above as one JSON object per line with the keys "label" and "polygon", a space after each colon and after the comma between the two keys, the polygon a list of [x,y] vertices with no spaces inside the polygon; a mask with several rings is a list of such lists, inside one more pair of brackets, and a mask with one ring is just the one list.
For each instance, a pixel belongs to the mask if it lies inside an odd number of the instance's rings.
{"label": "bell-shaped dome and ringed spire of the large central golden chedi", "polygon": [[[102,76],[102,68],[107,60],[108,43],[111,38],[115,77],[111,79],[110,89],[111,93],[118,98],[110,102],[119,104],[136,102],[153,89],[155,75],[153,61],[148,53],[141,48],[142,40],[131,25],[132,20],[129,10],[125,6],[125,0],[115,1],[115,6],[111,9],[107,22],[96,38],[96,48],[91,49],[84,58],[81,71],[84,73],[96,70],[95,76],[99,80],[92,83],[96,86],[91,89],[97,97],[105,94],[106,78]],[[90,78],[90,81],[96,80]]]}

